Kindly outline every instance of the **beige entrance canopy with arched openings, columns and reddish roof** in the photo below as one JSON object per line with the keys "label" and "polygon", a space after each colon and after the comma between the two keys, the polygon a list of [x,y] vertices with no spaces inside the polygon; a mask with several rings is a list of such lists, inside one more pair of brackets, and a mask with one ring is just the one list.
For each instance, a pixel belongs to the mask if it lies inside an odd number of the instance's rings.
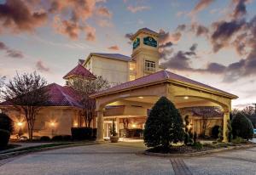
{"label": "beige entrance canopy with arched openings, columns and reddish roof", "polygon": [[[178,76],[170,71],[159,71],[91,95],[91,98],[96,99],[96,110],[98,111],[98,138],[103,138],[101,135],[101,130],[103,130],[102,110],[106,106],[127,106],[129,104],[131,109],[123,110],[123,114],[127,116],[129,114],[131,116],[143,116],[145,114],[137,114],[136,107],[143,106],[150,109],[161,96],[170,99],[177,108],[195,106],[221,107],[224,111],[224,131],[226,131],[227,121],[230,116],[231,100],[238,98],[234,94],[196,82],[184,76]],[[116,114],[116,116],[119,115]]]}

